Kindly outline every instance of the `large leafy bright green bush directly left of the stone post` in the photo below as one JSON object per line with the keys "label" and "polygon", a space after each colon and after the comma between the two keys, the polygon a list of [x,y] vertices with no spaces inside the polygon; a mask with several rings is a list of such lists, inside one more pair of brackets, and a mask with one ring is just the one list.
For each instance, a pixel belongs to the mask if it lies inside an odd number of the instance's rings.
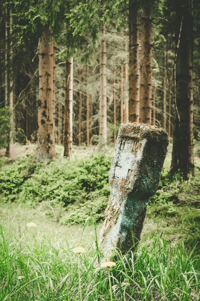
{"label": "large leafy bright green bush directly left of the stone post", "polygon": [[62,204],[67,207],[61,214],[63,224],[78,224],[88,216],[100,221],[109,195],[109,167],[110,157],[104,155],[52,161],[23,184],[19,200],[46,201],[52,208]]}

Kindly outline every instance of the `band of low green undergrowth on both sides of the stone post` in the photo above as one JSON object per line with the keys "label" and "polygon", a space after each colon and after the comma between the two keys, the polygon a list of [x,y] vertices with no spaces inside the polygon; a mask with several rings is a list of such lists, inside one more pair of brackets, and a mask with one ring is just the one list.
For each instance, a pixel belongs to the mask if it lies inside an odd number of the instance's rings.
{"label": "band of low green undergrowth on both sides of the stone post", "polygon": [[[60,148],[61,149],[61,148]],[[46,215],[62,224],[81,224],[88,216],[104,219],[109,197],[108,174],[111,156],[85,156],[69,161],[56,159],[38,164],[33,156],[16,161],[0,159],[0,194],[4,202],[15,201],[35,206],[42,203]],[[174,217],[182,206],[200,208],[199,163],[195,177],[183,181],[179,174],[167,179],[167,155],[158,190],[150,198],[148,211],[154,216]],[[198,219],[198,215],[194,216]]]}

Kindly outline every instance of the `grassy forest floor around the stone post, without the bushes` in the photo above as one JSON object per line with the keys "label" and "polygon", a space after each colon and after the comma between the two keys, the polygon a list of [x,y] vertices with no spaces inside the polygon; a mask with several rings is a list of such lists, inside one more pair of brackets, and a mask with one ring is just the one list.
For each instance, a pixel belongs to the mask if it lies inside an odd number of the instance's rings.
{"label": "grassy forest floor around the stone post, without the bushes", "polygon": [[[12,160],[30,156],[34,149],[33,144],[14,144]],[[196,143],[196,155],[198,149]],[[97,146],[75,146],[73,160],[81,161],[97,151]],[[113,147],[103,151],[111,156]],[[57,145],[58,158],[62,152]],[[170,156],[171,143],[163,175],[169,169]],[[6,166],[11,165],[12,161]],[[67,226],[59,222],[51,205],[46,211],[42,202],[5,202],[2,197],[0,301],[200,300],[199,171],[200,159],[195,156],[195,177],[182,181],[177,175],[171,182],[161,180],[147,208],[136,257],[124,266],[119,256],[109,273],[99,269],[96,261],[96,234],[98,237],[102,222]],[[29,228],[30,222],[36,226]],[[77,246],[84,247],[86,254],[75,255]]]}

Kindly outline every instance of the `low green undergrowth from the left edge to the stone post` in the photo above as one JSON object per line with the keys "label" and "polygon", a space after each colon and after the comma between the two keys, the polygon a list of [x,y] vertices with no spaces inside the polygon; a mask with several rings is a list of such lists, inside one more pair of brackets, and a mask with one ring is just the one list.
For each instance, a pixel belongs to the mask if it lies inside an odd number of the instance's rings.
{"label": "low green undergrowth from the left edge to the stone post", "polygon": [[46,214],[63,224],[78,224],[88,216],[104,218],[109,196],[109,155],[61,158],[48,165],[33,157],[0,161],[0,193],[4,202],[43,203]]}

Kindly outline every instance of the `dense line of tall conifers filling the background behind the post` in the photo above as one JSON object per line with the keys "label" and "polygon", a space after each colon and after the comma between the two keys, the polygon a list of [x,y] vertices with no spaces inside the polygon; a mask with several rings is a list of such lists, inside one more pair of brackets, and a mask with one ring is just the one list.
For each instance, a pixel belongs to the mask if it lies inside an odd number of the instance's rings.
{"label": "dense line of tall conifers filling the background behind the post", "polygon": [[170,175],[193,174],[198,1],[0,0],[0,9],[7,156],[13,141],[31,140],[39,160],[55,157],[55,142],[71,157],[72,143],[104,145],[120,123],[141,122],[173,136]]}

